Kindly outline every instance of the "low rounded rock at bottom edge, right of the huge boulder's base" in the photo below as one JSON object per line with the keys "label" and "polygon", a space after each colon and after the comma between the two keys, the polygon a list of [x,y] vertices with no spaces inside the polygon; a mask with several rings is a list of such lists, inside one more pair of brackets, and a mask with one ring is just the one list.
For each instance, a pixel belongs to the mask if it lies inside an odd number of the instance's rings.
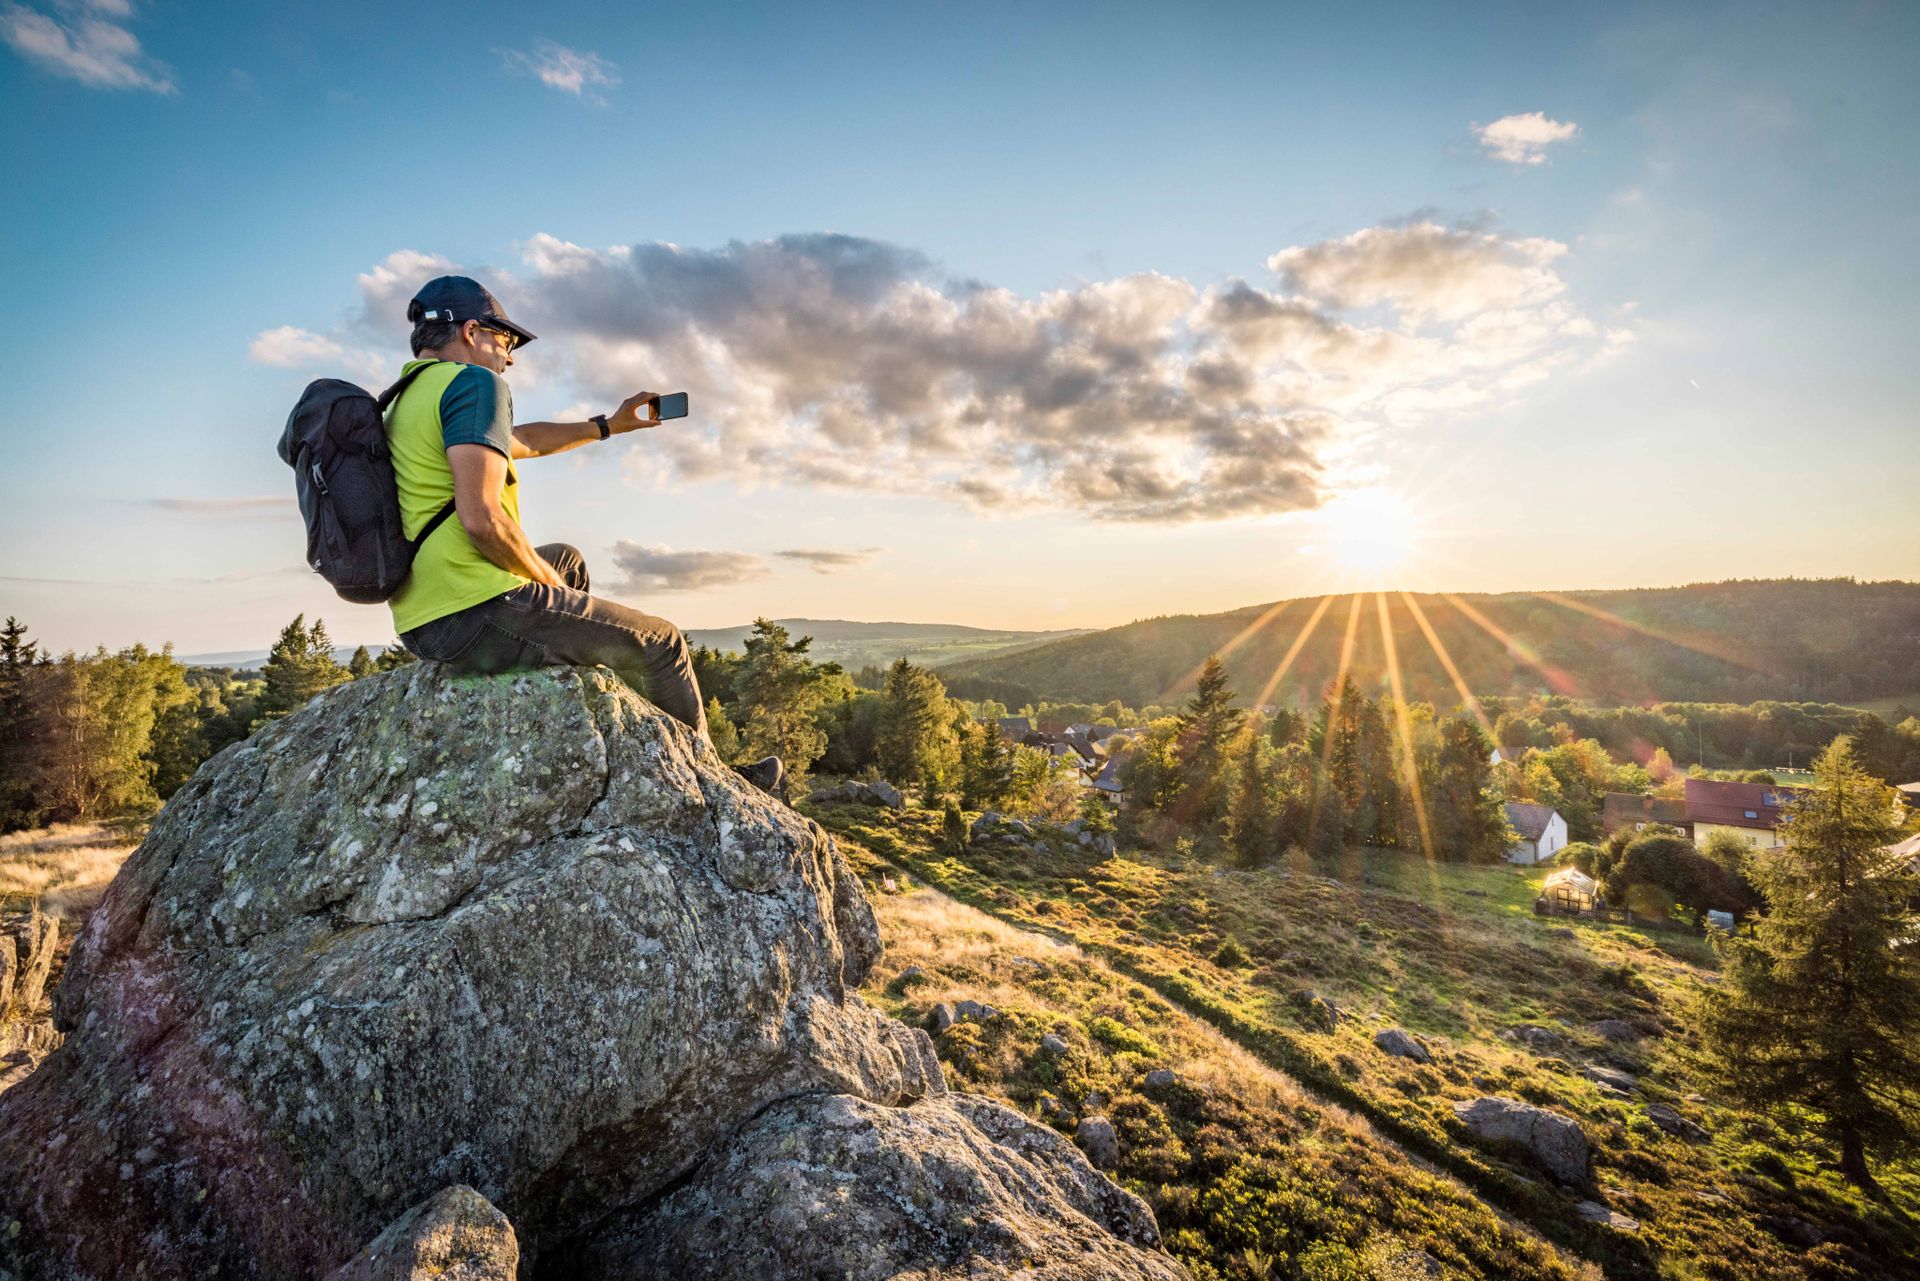
{"label": "low rounded rock at bottom edge, right of the huge boulder's base", "polygon": [[776,1104],[664,1200],[551,1275],[1181,1281],[1146,1204],[987,1099]]}

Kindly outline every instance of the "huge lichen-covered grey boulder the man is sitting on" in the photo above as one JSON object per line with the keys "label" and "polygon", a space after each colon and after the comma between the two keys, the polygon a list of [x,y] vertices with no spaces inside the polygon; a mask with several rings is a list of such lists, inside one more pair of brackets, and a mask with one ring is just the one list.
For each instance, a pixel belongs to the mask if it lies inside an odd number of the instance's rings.
{"label": "huge lichen-covered grey boulder the man is sitting on", "polygon": [[945,1097],[852,991],[877,956],[831,839],[609,672],[342,686],[207,762],[77,939],[0,1095],[0,1260],[323,1275],[465,1183],[564,1275],[755,1118]]}

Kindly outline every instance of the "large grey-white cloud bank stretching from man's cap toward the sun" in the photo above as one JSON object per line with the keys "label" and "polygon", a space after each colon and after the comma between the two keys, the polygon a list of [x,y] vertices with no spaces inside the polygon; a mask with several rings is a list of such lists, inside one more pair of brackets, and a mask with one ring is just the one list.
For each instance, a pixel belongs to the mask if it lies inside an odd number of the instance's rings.
{"label": "large grey-white cloud bank stretching from man's cap toward the sun", "polygon": [[[691,394],[689,419],[647,436],[647,482],[1190,522],[1317,507],[1371,442],[1620,346],[1569,298],[1565,254],[1421,219],[1279,250],[1267,280],[1139,273],[1021,296],[860,236],[538,234],[511,273],[472,275],[541,334],[516,390]],[[397,344],[405,300],[445,271],[403,250],[363,275],[348,361]]]}

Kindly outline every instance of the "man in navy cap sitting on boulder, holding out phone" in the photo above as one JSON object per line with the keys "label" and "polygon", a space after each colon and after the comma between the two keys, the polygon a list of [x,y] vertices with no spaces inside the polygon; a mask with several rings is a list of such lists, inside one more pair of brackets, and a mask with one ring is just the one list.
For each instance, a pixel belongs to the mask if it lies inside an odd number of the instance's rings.
{"label": "man in navy cap sitting on boulder, holding out phone", "polygon": [[[394,593],[401,643],[455,672],[599,663],[707,739],[707,709],[680,628],[588,595],[580,551],[536,547],[520,528],[516,459],[655,426],[657,394],[636,392],[586,423],[515,426],[501,375],[534,334],[467,277],[428,280],[407,303],[407,319],[415,359],[401,373],[420,373],[386,415],[401,524],[417,538],[447,499],[459,519],[426,536]],[[783,776],[778,757],[735,768],[766,791]]]}

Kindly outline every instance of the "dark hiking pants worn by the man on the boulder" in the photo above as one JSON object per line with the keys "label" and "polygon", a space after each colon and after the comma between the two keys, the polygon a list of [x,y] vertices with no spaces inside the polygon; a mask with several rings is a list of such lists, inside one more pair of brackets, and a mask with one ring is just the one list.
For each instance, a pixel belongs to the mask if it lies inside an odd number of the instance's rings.
{"label": "dark hiking pants worn by the man on the boulder", "polygon": [[413,628],[399,641],[420,659],[461,674],[601,663],[662,713],[705,739],[707,709],[693,678],[687,638],[666,618],[588,595],[588,563],[576,547],[536,547],[564,588],[526,582],[445,618]]}

